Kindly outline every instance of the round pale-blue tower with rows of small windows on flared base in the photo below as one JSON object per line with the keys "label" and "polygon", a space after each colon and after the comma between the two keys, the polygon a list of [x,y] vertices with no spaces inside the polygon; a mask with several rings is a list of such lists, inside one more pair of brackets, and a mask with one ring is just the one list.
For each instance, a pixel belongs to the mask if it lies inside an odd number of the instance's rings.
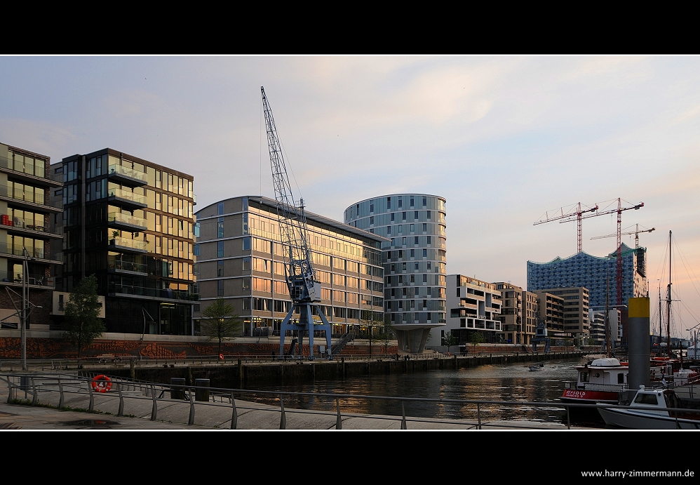
{"label": "round pale-blue tower with rows of small windows on flared base", "polygon": [[445,325],[445,199],[392,194],[346,208],[346,224],[390,241],[382,243],[384,319],[398,347],[419,353],[430,329]]}

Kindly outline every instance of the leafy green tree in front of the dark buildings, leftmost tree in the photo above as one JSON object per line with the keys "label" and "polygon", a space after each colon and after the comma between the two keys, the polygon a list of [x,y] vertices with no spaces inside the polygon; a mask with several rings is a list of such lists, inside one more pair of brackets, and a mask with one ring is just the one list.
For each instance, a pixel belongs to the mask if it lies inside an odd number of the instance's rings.
{"label": "leafy green tree in front of the dark buildings, leftmost tree", "polygon": [[105,324],[99,317],[100,310],[102,305],[97,300],[97,278],[91,274],[73,287],[65,304],[64,338],[78,348],[78,359],[82,357],[83,349],[105,331]]}

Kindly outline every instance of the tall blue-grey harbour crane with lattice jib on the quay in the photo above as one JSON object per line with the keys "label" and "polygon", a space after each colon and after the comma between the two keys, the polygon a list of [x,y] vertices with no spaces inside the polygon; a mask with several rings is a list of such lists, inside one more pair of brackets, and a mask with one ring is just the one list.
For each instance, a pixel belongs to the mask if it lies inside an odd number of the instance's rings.
{"label": "tall blue-grey harbour crane with lattice jib on the quay", "polygon": [[[314,358],[314,330],[325,331],[325,340],[330,358],[331,326],[325,318],[323,310],[318,305],[321,301],[321,283],[316,281],[314,268],[311,266],[311,253],[309,252],[309,230],[307,218],[304,213],[304,200],[300,199],[295,204],[292,196],[292,187],[289,182],[287,166],[282,154],[282,145],[277,135],[272,110],[267,102],[264,87],[260,87],[262,93],[262,105],[267,126],[267,145],[270,152],[270,166],[272,168],[272,182],[277,202],[277,220],[280,227],[280,238],[283,246],[285,278],[287,288],[292,299],[292,307],[282,321],[280,328],[280,356],[284,354],[284,340],[287,331],[297,335],[299,339],[299,354],[302,353],[304,332],[309,333],[309,351],[311,359]],[[298,321],[292,320],[295,310],[299,311]],[[314,313],[321,318],[321,323],[314,323]],[[292,340],[290,354],[294,354],[295,340]]]}

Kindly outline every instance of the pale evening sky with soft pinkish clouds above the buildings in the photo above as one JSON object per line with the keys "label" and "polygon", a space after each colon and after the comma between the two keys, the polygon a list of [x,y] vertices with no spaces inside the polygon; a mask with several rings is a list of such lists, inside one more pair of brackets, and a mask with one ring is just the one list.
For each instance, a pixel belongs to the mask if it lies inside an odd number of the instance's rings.
{"label": "pale evening sky with soft pinkish clouds above the buildings", "polygon": [[[575,222],[533,225],[546,211],[644,202],[622,227],[655,228],[640,234],[652,315],[672,230],[673,335],[700,328],[698,57],[0,57],[0,67],[0,142],[52,162],[111,147],[173,167],[194,175],[196,209],[274,197],[264,86],[295,199],[342,221],[370,197],[445,197],[448,274],[525,287],[527,260],[577,251]],[[590,238],[615,232],[614,215],[584,220],[584,251],[611,253],[614,237]]]}

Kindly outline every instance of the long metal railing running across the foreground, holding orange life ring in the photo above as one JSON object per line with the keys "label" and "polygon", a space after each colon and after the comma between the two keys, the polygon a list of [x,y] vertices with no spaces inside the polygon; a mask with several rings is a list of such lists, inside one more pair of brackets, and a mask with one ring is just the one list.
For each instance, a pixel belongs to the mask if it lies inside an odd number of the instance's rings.
{"label": "long metal railing running across the foreground, holding orange life ring", "polygon": [[[183,379],[184,380],[184,379]],[[208,381],[208,380],[207,380]],[[309,427],[308,417],[316,416],[319,420],[319,427],[328,429],[328,420],[335,418],[335,429],[342,430],[344,418],[364,418],[372,420],[389,420],[399,423],[401,430],[407,430],[409,423],[432,423],[433,427],[439,425],[463,425],[467,429],[483,430],[485,428],[498,429],[510,428],[513,424],[504,421],[501,416],[494,416],[503,408],[546,408],[551,411],[561,412],[561,423],[567,429],[571,428],[571,409],[628,409],[628,406],[616,406],[611,404],[569,404],[563,402],[542,402],[542,401],[491,401],[476,399],[438,399],[419,397],[387,397],[360,394],[335,394],[321,392],[287,392],[287,391],[262,391],[243,390],[224,387],[209,387],[208,385],[177,385],[149,383],[140,380],[128,380],[109,376],[104,376],[98,380],[95,376],[77,376],[68,373],[54,374],[0,374],[0,383],[8,387],[8,404],[30,404],[36,406],[66,408],[69,400],[74,408],[85,409],[88,413],[102,412],[107,408],[114,409],[114,397],[118,397],[116,406],[116,416],[125,416],[130,411],[135,411],[133,416],[144,416],[144,411],[150,408],[150,420],[158,420],[159,403],[164,404],[163,409],[168,410],[166,419],[170,422],[194,425],[197,411],[205,413],[205,416],[215,416],[217,423],[222,423],[219,427],[228,425],[231,430],[238,429],[238,411],[257,411],[262,413],[272,413],[269,420],[279,419],[279,429],[287,429],[288,414],[303,413],[307,416],[304,420],[304,427]],[[110,392],[111,394],[107,394]],[[108,397],[109,399],[102,399]],[[249,399],[244,401],[241,397]],[[268,402],[276,401],[278,406],[271,404],[260,405],[255,403],[258,399],[266,399]],[[236,402],[236,398],[238,401]],[[314,403],[316,408],[285,408],[285,399],[297,399]],[[218,401],[217,401],[218,399]],[[110,401],[114,404],[110,404]],[[146,401],[146,402],[144,402]],[[384,401],[401,405],[401,416],[398,415],[368,415],[361,413],[351,413],[341,411],[341,403],[358,407],[358,402],[368,403],[368,401]],[[180,408],[180,413],[173,412],[173,404],[182,403],[187,406]],[[145,406],[144,406],[145,404]],[[257,404],[257,405],[256,405]],[[420,404],[440,404],[440,406],[458,406],[462,413],[469,412],[469,418],[421,418],[409,416],[406,408],[418,407]],[[78,405],[78,406],[76,406]],[[86,405],[86,406],[85,406]],[[84,407],[83,407],[84,406]],[[206,411],[202,406],[207,406]],[[635,406],[638,410],[660,411],[659,406]],[[672,416],[683,414],[698,414],[699,409],[687,408],[664,408],[663,411],[671,411]],[[185,420],[184,416],[187,416]],[[277,416],[279,416],[277,418]],[[161,410],[161,418],[163,413]],[[180,418],[180,420],[178,420]],[[495,420],[489,421],[489,419]],[[678,418],[677,418],[678,419]],[[267,422],[269,423],[269,420]],[[529,424],[527,421],[518,420],[518,426],[523,429],[541,428],[539,424]],[[438,425],[438,426],[436,426]],[[680,426],[678,426],[680,427]]]}

